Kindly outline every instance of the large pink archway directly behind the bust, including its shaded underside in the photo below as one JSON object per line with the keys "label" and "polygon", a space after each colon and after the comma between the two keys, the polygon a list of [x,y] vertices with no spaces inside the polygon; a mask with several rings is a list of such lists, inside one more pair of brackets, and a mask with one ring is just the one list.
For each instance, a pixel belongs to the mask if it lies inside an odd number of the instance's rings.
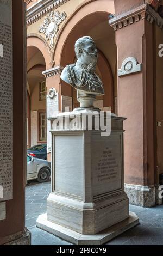
{"label": "large pink archway directly behind the bust, including its shaded underside", "polygon": [[[73,63],[75,57],[74,42],[81,36],[90,35],[90,31],[99,24],[103,22],[107,24],[109,14],[112,13],[114,13],[113,0],[96,0],[96,4],[94,1],[89,0],[79,5],[78,9],[69,17],[58,34],[53,53],[55,66],[66,66],[68,63]],[[107,29],[106,26],[105,29]],[[105,34],[102,34],[102,36],[105,37]],[[93,39],[97,40],[96,33]],[[98,68],[101,72],[105,89],[103,107],[111,106],[112,112],[114,112],[114,79],[109,62],[101,48],[99,48]],[[70,96],[72,93],[71,88],[68,88],[62,81],[60,81],[60,84],[61,94]]]}

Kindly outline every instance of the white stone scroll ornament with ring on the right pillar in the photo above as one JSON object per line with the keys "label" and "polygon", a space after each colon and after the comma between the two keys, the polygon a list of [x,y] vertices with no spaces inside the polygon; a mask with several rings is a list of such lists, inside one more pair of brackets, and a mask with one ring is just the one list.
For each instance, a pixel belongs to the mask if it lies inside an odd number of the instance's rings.
{"label": "white stone scroll ornament with ring on the right pillar", "polygon": [[122,63],[121,69],[118,70],[118,76],[129,75],[135,72],[142,71],[142,64],[138,64],[137,59],[129,57]]}

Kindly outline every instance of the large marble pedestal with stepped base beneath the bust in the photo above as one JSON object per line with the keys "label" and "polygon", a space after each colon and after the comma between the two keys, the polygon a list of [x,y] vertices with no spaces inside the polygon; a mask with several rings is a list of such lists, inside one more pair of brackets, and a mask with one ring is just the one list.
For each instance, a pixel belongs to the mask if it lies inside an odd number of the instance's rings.
{"label": "large marble pedestal with stepped base beneath the bust", "polygon": [[101,136],[95,130],[98,114],[92,130],[85,127],[83,114],[92,115],[77,111],[51,120],[52,192],[47,215],[39,216],[37,227],[76,244],[99,245],[138,224],[139,218],[129,215],[124,192],[124,118],[111,116],[111,135]]}

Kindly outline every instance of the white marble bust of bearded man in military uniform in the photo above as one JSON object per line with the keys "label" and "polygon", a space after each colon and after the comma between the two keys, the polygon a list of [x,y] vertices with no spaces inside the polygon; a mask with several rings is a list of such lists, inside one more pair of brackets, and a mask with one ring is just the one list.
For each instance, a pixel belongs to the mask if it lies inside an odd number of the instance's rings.
{"label": "white marble bust of bearded man in military uniform", "polygon": [[77,62],[67,65],[61,73],[61,79],[78,92],[92,95],[104,95],[101,79],[95,73],[98,51],[90,36],[79,38],[75,44]]}

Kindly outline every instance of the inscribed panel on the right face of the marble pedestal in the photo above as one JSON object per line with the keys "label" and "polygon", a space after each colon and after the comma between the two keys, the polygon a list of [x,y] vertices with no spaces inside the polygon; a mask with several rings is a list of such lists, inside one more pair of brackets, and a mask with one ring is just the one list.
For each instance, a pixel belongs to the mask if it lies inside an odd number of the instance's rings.
{"label": "inscribed panel on the right face of the marble pedestal", "polygon": [[93,196],[122,188],[121,135],[95,137],[92,144]]}

